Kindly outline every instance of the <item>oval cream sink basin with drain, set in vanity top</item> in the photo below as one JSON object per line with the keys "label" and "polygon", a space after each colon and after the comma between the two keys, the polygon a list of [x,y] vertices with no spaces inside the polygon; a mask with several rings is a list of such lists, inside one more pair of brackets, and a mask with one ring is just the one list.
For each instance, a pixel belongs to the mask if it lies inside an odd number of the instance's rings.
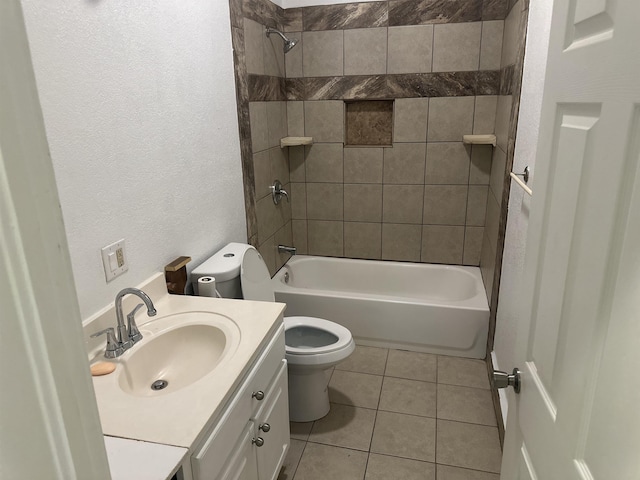
{"label": "oval cream sink basin with drain, set in vanity top", "polygon": [[[120,388],[147,397],[175,392],[198,381],[235,350],[233,344],[237,346],[237,339],[228,338],[233,330],[221,327],[195,323],[147,333],[121,357]],[[141,330],[145,332],[144,327]]]}

